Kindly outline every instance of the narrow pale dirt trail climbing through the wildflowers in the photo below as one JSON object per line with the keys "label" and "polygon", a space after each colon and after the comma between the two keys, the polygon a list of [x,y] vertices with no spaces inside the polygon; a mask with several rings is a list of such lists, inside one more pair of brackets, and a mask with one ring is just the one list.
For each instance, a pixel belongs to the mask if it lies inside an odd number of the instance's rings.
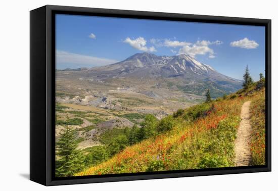
{"label": "narrow pale dirt trail climbing through the wildflowers", "polygon": [[248,166],[251,162],[251,124],[250,108],[251,101],[245,102],[241,110],[241,123],[238,128],[237,138],[235,140],[236,166]]}

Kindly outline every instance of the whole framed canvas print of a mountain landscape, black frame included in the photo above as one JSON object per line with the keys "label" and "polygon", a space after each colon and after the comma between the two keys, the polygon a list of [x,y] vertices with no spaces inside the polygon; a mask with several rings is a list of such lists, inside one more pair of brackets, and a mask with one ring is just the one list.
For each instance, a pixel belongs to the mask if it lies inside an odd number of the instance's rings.
{"label": "whole framed canvas print of a mountain landscape, black frame included", "polygon": [[30,12],[30,179],[271,170],[271,20]]}

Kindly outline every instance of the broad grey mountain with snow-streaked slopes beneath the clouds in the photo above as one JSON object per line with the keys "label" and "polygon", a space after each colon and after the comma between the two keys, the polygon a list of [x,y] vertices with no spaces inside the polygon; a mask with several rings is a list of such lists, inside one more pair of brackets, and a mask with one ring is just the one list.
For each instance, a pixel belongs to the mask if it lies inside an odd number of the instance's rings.
{"label": "broad grey mountain with snow-streaked slopes beneath the clouds", "polygon": [[241,88],[242,81],[225,76],[211,66],[202,64],[189,55],[156,56],[138,53],[124,61],[82,70],[79,77],[94,80],[122,79],[132,82],[167,84],[186,93],[204,95],[211,90],[213,98],[234,92]]}

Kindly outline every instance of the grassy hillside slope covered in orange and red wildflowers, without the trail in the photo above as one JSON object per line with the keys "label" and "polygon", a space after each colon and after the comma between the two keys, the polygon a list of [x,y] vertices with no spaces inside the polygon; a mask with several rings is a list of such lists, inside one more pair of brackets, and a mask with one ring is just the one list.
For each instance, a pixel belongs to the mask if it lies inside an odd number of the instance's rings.
{"label": "grassy hillside slope covered in orange and red wildflowers, without the trail", "polygon": [[[210,103],[179,110],[173,128],[129,146],[80,175],[234,166],[234,140],[244,102],[251,101],[252,164],[265,163],[264,88],[256,84]],[[163,125],[163,123],[158,123]],[[158,126],[159,128],[159,126]]]}

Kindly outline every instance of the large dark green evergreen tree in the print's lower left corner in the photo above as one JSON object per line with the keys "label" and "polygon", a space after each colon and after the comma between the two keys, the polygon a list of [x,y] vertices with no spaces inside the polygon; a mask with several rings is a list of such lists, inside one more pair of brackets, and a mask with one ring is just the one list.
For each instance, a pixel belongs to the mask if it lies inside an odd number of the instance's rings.
{"label": "large dark green evergreen tree in the print's lower left corner", "polygon": [[83,169],[83,156],[76,148],[76,131],[66,126],[56,144],[56,176],[72,176]]}

